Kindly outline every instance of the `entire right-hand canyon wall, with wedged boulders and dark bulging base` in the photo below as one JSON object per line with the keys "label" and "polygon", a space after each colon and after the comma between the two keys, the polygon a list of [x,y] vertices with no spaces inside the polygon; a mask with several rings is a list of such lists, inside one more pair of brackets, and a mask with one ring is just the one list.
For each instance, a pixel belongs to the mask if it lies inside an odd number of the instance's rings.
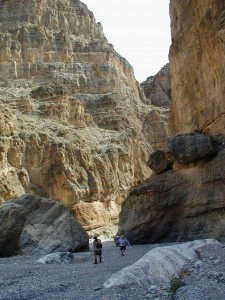
{"label": "entire right-hand canyon wall, with wedged boulders and dark bulging base", "polygon": [[170,2],[170,138],[150,155],[155,174],[123,203],[119,233],[133,243],[215,237],[224,224],[224,8]]}

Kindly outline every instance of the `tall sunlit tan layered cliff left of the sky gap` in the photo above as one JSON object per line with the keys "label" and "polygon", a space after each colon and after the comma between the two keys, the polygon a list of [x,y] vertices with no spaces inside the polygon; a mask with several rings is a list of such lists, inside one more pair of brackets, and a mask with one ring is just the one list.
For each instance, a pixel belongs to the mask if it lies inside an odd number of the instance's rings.
{"label": "tall sunlit tan layered cliff left of the sky gap", "polygon": [[0,202],[34,193],[114,234],[167,114],[82,2],[0,0],[0,26]]}

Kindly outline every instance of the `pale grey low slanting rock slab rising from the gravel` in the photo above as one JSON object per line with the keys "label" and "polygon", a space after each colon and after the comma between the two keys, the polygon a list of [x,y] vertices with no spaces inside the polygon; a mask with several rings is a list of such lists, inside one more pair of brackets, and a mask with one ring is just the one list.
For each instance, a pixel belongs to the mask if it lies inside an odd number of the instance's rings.
{"label": "pale grey low slanting rock slab rising from the gravel", "polygon": [[198,259],[197,252],[200,247],[218,245],[221,244],[216,240],[196,240],[154,248],[133,265],[113,274],[104,283],[104,287],[128,284],[168,286],[173,276],[179,276],[185,264]]}

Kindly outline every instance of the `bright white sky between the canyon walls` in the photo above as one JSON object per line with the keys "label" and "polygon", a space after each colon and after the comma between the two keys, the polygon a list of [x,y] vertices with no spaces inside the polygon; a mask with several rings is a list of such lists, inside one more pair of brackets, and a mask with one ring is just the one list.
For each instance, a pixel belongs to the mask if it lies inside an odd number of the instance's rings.
{"label": "bright white sky between the canyon walls", "polygon": [[169,0],[81,0],[101,22],[114,49],[139,82],[168,63],[171,43]]}

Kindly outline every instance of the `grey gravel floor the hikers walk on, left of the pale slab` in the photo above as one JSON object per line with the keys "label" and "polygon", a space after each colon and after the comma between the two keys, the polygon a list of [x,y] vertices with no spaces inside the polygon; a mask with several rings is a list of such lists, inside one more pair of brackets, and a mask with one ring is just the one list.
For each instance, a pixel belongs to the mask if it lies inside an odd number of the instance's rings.
{"label": "grey gravel floor the hikers walk on, left of the pale slab", "polygon": [[[0,258],[0,299],[150,299],[148,291],[144,288],[123,286],[105,289],[103,283],[113,273],[133,264],[157,246],[159,244],[127,247],[125,256],[121,256],[119,248],[113,242],[105,242],[103,243],[102,264],[97,265],[93,264],[92,251],[75,253],[73,263],[69,265],[37,264],[36,260],[40,257]],[[168,299],[168,297],[162,296],[158,299]]]}

